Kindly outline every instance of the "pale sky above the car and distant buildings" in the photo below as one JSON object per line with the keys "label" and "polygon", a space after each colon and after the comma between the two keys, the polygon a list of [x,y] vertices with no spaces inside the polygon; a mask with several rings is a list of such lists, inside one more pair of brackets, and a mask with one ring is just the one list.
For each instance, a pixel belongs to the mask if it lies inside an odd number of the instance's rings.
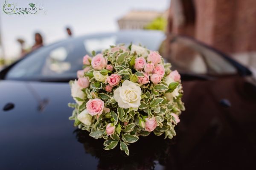
{"label": "pale sky above the car and distant buildings", "polygon": [[[117,20],[131,10],[165,11],[170,0],[8,0],[15,7],[27,7],[35,3],[36,14],[5,14],[0,0],[0,31],[3,52],[6,58],[17,58],[20,53],[17,38],[34,43],[35,32],[40,32],[44,44],[67,38],[68,26],[74,36],[98,32],[113,32],[119,29]],[[1,55],[1,54],[0,54]]]}

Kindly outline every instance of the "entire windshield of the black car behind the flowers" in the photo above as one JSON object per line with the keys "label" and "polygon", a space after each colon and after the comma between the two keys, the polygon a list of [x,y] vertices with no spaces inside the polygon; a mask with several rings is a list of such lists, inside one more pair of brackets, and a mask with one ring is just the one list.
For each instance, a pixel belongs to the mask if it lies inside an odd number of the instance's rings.
{"label": "entire windshield of the black car behind the flowers", "polygon": [[[75,79],[81,70],[84,55],[100,53],[110,45],[130,43],[143,45],[172,63],[172,70],[181,73],[223,75],[236,74],[236,68],[221,54],[189,39],[176,39],[168,44],[160,31],[121,31],[115,34],[97,34],[70,38],[42,47],[18,62],[7,73],[6,79],[58,81]],[[169,45],[169,47],[168,47]],[[169,51],[168,51],[169,50]]]}

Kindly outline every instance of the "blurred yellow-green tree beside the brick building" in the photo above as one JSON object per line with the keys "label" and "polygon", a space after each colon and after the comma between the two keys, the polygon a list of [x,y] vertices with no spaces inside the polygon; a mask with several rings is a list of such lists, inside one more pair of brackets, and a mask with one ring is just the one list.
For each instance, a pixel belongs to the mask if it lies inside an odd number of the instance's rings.
{"label": "blurred yellow-green tree beside the brick building", "polygon": [[165,31],[167,26],[167,20],[164,17],[157,17],[151,23],[144,27],[144,29],[153,29]]}

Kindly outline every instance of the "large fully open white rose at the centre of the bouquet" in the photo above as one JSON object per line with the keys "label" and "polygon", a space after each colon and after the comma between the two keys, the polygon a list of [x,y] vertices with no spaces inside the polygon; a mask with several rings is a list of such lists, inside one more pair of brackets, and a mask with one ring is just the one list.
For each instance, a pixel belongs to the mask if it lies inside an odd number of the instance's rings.
{"label": "large fully open white rose at the centre of the bouquet", "polygon": [[114,91],[114,99],[120,108],[138,108],[140,106],[141,88],[137,83],[125,80],[122,87]]}

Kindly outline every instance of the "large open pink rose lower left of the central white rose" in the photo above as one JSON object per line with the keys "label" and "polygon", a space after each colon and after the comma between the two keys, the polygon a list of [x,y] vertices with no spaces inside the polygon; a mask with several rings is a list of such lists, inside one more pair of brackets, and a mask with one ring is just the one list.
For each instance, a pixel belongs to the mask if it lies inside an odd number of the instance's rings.
{"label": "large open pink rose lower left of the central white rose", "polygon": [[101,115],[104,109],[104,102],[101,99],[90,99],[86,103],[86,109],[90,115]]}

